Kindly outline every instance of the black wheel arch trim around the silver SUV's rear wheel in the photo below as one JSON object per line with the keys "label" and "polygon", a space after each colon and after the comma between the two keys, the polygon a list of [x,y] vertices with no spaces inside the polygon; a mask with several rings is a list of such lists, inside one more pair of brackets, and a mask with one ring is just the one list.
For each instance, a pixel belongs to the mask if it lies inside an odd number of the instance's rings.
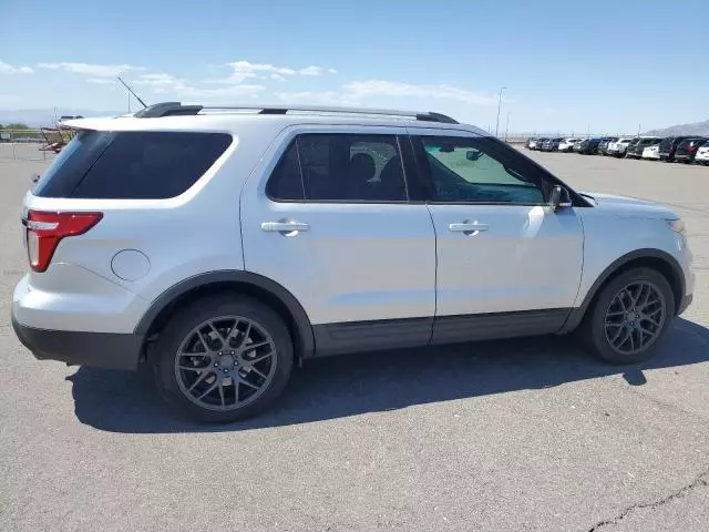
{"label": "black wheel arch trim around the silver SUV's rear wheel", "polygon": [[268,277],[243,270],[209,272],[177,283],[155,298],[134,334],[143,336],[145,342],[151,341],[175,311],[197,298],[225,291],[247,295],[271,307],[290,330],[296,358],[315,355],[312,325],[296,297]]}

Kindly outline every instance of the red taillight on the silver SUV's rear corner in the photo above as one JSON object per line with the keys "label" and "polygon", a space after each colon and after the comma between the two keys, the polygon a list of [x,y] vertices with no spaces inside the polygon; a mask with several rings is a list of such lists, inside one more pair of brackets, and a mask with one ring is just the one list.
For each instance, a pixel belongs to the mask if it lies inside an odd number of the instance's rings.
{"label": "red taillight on the silver SUV's rear corner", "polygon": [[86,233],[102,217],[102,213],[28,212],[27,250],[30,267],[34,272],[45,272],[62,238]]}

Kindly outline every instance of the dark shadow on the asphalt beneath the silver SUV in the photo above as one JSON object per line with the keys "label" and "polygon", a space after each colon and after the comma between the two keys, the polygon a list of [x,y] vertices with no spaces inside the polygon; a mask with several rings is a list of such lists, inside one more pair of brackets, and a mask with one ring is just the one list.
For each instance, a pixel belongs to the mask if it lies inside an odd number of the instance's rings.
{"label": "dark shadow on the asphalt beneath the silver SUV", "polygon": [[610,366],[578,349],[568,337],[521,338],[335,357],[295,370],[278,405],[257,418],[205,426],[181,418],[160,397],[150,371],[81,367],[73,382],[75,415],[100,430],[130,433],[243,431],[308,423],[491,393],[549,388],[623,375],[646,382],[645,369],[709,360],[709,329],[677,319],[653,360]]}

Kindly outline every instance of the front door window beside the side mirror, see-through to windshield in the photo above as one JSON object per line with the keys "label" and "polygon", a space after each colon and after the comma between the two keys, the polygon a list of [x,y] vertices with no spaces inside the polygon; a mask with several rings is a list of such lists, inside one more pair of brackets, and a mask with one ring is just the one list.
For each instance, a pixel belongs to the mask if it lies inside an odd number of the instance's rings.
{"label": "front door window beside the side mirror, see-through to windshield", "polygon": [[433,200],[541,204],[544,193],[533,167],[491,139],[423,136],[422,157]]}

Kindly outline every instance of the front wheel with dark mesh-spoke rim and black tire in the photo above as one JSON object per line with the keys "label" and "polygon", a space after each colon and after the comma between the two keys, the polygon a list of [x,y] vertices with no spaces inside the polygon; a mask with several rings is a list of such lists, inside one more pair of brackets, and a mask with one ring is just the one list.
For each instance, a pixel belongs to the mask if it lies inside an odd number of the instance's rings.
{"label": "front wheel with dark mesh-spoke rim and black tire", "polygon": [[[647,288],[638,291],[636,286],[649,286],[654,291]],[[638,305],[639,313],[633,314],[629,310],[635,295],[640,303],[646,295],[646,300],[657,299],[657,303],[648,307]],[[623,310],[624,306],[628,313]],[[656,309],[660,307],[661,313],[658,313]],[[586,349],[602,360],[617,365],[641,362],[658,351],[675,317],[675,308],[672,288],[662,274],[646,267],[633,268],[606,283],[587,310],[578,332]],[[637,321],[628,321],[628,315]]]}

